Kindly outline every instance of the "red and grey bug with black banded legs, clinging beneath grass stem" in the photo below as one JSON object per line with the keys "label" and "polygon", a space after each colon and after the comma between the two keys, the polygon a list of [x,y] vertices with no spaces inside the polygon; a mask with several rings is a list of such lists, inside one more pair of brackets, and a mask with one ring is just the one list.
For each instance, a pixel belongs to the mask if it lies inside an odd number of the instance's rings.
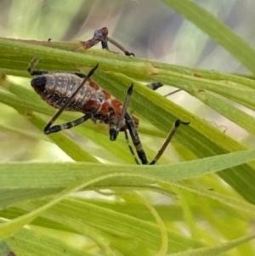
{"label": "red and grey bug with black banded legs, clinging beneath grass stem", "polygon": [[[122,104],[119,100],[111,99],[111,94],[100,89],[99,85],[91,80],[90,77],[93,76],[99,65],[95,65],[86,76],[80,72],[34,70],[38,60],[38,58],[31,60],[31,64],[27,68],[31,76],[36,76],[31,79],[31,86],[48,105],[59,109],[44,128],[45,134],[53,134],[63,129],[75,127],[88,119],[92,119],[94,122],[105,122],[110,126],[111,140],[116,140],[119,132],[124,131],[128,142],[128,130],[142,164],[155,164],[167,148],[178,126],[190,123],[178,119],[161,150],[158,151],[153,161],[149,162],[136,130],[139,119],[127,112],[127,106],[133,92],[133,84],[128,88],[126,99]],[[155,88],[155,85],[153,88]],[[72,122],[52,126],[63,111],[80,111],[85,115]],[[128,144],[128,147],[135,161],[139,163],[132,146]]]}

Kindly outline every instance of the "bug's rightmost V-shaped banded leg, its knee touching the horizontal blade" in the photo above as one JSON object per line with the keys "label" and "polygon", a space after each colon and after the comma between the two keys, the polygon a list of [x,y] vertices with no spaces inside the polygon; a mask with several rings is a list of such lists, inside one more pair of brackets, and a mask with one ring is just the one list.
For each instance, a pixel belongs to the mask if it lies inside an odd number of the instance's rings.
{"label": "bug's rightmost V-shaped banded leg, its knee touching the horizontal blade", "polygon": [[[154,159],[151,162],[148,162],[147,157],[144,152],[144,149],[143,149],[143,145],[141,143],[141,140],[139,139],[139,134],[136,131],[132,117],[128,113],[126,113],[126,115],[125,115],[125,120],[126,120],[127,129],[129,131],[129,134],[131,135],[131,138],[133,140],[133,145],[135,146],[135,149],[137,151],[139,159],[141,160],[142,164],[150,164],[150,165],[154,165],[159,160],[159,158],[161,157],[163,152],[166,150],[167,145],[169,145],[170,141],[173,139],[173,135],[176,133],[180,124],[184,124],[184,125],[190,124],[190,122],[183,122],[178,119],[174,123],[173,129],[171,130],[170,134],[167,136],[166,141],[161,146],[160,151],[158,151],[158,153],[156,154],[156,156],[154,157]],[[132,154],[133,154],[133,152],[132,152]]]}

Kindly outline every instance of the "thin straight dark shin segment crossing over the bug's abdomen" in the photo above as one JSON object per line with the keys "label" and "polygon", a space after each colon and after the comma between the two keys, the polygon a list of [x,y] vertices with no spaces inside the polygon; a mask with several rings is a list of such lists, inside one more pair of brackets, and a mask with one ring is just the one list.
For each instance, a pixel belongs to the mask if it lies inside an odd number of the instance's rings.
{"label": "thin straight dark shin segment crossing over the bug's abdomen", "polygon": [[[48,129],[52,126],[52,124],[56,121],[56,119],[61,115],[63,111],[65,111],[66,107],[68,107],[71,104],[71,101],[75,98],[79,90],[83,87],[85,82],[88,81],[89,77],[91,77],[94,74],[94,71],[98,68],[99,64],[95,65],[94,68],[88,72],[88,76],[83,79],[81,84],[78,86],[76,91],[71,95],[71,97],[66,100],[65,105],[62,105],[61,108],[59,108],[59,111],[57,111],[54,115],[54,117],[51,118],[51,120],[48,122],[47,126],[44,128],[44,133],[48,134]],[[86,116],[86,115],[85,115]],[[90,117],[89,117],[90,118]],[[85,120],[86,121],[86,120]],[[83,122],[85,122],[83,121]]]}

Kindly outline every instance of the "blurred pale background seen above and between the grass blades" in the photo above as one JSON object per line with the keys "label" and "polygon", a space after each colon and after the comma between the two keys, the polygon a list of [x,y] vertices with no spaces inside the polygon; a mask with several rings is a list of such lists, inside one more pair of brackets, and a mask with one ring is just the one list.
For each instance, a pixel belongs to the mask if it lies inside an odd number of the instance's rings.
{"label": "blurred pale background seen above and between the grass blades", "polygon": [[[217,16],[248,43],[253,44],[254,1],[207,0],[195,3]],[[93,36],[96,29],[107,26],[110,37],[122,43],[138,57],[175,65],[248,74],[224,48],[169,9],[165,3],[156,0],[5,0],[0,1],[0,26],[0,37],[35,40],[52,38],[53,41],[87,40]],[[114,46],[110,47],[117,51]],[[100,45],[96,48],[100,48]],[[28,79],[14,81],[30,87]],[[159,89],[159,93],[167,94],[172,90],[173,88],[165,86]],[[253,136],[190,95],[181,92],[170,96],[169,99],[189,108],[226,134],[253,147]],[[242,109],[246,111],[244,107]],[[5,125],[8,125],[8,128]],[[9,127],[22,127],[29,136],[12,133]],[[42,131],[31,126],[25,118],[3,104],[0,128],[0,161],[71,160],[48,142]],[[37,139],[38,136],[42,139]],[[146,138],[142,136],[142,139]],[[157,141],[147,138],[145,141],[158,147],[162,139]],[[91,151],[102,150],[90,142],[84,143],[86,146],[89,144]]]}

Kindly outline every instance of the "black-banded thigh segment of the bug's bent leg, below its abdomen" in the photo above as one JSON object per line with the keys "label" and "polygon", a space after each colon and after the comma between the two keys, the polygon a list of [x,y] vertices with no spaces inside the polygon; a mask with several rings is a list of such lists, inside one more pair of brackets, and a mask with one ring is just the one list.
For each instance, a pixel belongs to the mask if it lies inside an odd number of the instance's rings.
{"label": "black-banded thigh segment of the bug's bent leg, below its abdomen", "polygon": [[86,122],[88,119],[93,117],[95,112],[97,112],[97,110],[90,111],[88,114],[86,114],[83,117],[80,117],[74,121],[54,125],[53,127],[50,127],[52,125],[52,123],[49,122],[48,125],[44,128],[44,134],[53,134],[53,133],[57,133],[64,129],[73,128],[73,127],[81,124],[82,122]]}

